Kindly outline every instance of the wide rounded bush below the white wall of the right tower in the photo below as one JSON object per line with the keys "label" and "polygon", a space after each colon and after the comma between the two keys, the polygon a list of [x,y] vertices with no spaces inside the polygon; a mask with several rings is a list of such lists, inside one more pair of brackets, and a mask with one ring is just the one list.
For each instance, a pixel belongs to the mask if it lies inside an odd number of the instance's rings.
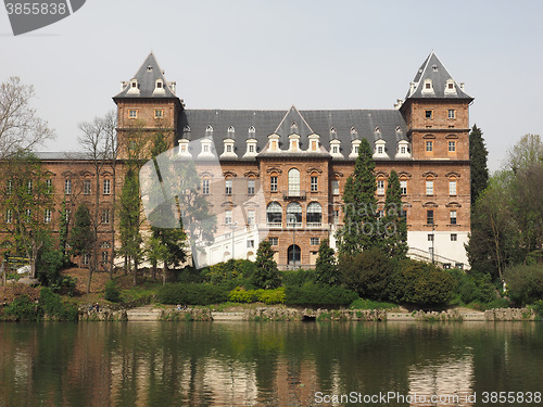
{"label": "wide rounded bush below the white wall of the right tower", "polygon": [[455,288],[446,270],[424,262],[406,259],[391,278],[391,300],[417,305],[446,304]]}

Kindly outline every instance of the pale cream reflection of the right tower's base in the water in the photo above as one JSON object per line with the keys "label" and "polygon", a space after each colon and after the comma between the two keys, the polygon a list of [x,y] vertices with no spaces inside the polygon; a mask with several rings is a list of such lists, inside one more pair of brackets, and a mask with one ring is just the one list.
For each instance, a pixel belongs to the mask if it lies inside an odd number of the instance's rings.
{"label": "pale cream reflection of the right tower's base in the water", "polygon": [[[467,396],[473,394],[473,356],[445,359],[439,365],[415,365],[409,369],[409,396],[417,396],[412,406],[471,406]],[[440,397],[431,403],[431,396]],[[426,397],[427,404],[419,403]]]}

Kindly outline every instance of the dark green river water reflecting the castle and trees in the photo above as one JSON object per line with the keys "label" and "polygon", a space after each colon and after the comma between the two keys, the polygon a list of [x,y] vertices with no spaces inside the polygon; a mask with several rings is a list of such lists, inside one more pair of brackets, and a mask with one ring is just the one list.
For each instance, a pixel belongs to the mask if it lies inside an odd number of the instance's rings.
{"label": "dark green river water reflecting the castle and trees", "polygon": [[533,322],[0,323],[0,406],[314,406],[317,392],[470,406],[541,391],[542,344]]}

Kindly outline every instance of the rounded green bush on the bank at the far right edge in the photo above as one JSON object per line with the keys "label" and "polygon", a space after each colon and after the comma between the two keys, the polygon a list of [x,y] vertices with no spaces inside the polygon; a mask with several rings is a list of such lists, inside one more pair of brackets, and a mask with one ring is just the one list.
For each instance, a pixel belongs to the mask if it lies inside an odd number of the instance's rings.
{"label": "rounded green bush on the bank at the far right edge", "polygon": [[507,294],[517,304],[533,304],[543,298],[543,267],[519,265],[505,271]]}

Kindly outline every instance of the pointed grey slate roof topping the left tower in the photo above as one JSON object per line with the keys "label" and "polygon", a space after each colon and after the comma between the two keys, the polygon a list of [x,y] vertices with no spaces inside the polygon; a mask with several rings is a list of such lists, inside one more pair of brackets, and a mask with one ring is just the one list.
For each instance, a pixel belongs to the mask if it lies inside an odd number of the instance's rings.
{"label": "pointed grey slate roof topping the left tower", "polygon": [[[162,88],[160,88],[161,91],[156,91],[156,81],[159,79],[162,81]],[[132,80],[137,80],[137,89],[139,90],[139,92],[130,91]],[[141,64],[136,75],[134,75],[134,78],[131,78],[129,81],[124,81],[123,86],[123,90],[121,91],[121,93],[113,98],[114,100],[118,98],[177,99],[177,97],[175,96],[175,89],[173,89],[171,82],[166,82],[166,79],[164,78],[164,72],[159,66],[156,58],[152,52]]]}

